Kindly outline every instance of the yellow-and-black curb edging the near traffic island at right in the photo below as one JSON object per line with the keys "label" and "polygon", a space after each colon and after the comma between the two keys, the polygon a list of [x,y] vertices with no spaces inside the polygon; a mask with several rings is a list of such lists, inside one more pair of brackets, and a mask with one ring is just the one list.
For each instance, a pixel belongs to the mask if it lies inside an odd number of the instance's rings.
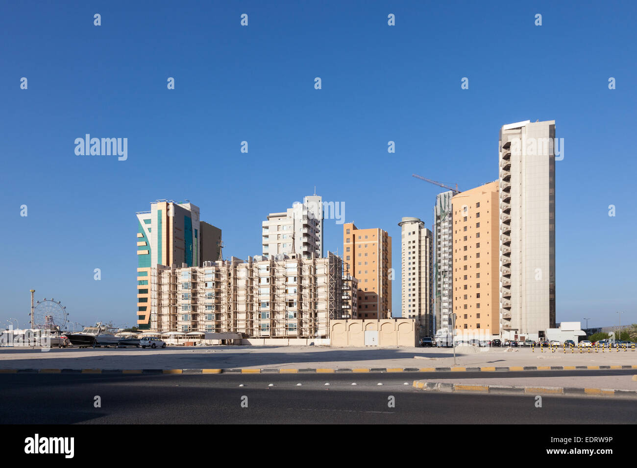
{"label": "yellow-and-black curb edging the near traffic island at right", "polygon": [[637,390],[615,388],[575,388],[568,386],[467,385],[414,380],[412,386],[426,392],[497,395],[578,395],[591,397],[633,397]]}

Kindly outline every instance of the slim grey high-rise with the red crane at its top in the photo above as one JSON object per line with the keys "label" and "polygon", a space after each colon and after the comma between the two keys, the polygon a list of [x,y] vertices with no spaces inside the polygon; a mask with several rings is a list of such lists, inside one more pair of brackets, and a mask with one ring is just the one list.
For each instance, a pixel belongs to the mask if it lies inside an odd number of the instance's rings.
{"label": "slim grey high-rise with the red crane at its top", "polygon": [[434,308],[436,334],[447,336],[453,313],[454,274],[452,270],[453,219],[451,199],[454,192],[436,195],[434,207]]}

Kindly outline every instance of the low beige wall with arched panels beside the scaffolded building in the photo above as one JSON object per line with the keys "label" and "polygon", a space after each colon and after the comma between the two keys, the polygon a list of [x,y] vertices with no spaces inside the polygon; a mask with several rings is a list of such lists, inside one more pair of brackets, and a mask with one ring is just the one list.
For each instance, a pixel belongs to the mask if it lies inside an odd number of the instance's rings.
{"label": "low beige wall with arched panels beside the scaffolded building", "polygon": [[378,332],[378,346],[416,346],[418,333],[415,320],[387,318],[381,320],[332,320],[332,346],[365,346],[365,332]]}

